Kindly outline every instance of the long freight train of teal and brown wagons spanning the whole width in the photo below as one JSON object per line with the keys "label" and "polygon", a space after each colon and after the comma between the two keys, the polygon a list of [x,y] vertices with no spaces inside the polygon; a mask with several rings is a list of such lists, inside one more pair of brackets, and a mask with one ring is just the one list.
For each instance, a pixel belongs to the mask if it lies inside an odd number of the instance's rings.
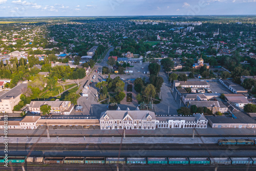
{"label": "long freight train of teal and brown wagons spanning the whole width", "polygon": [[[222,157],[222,158],[172,158],[172,157],[8,157],[12,163],[44,164],[255,164],[256,158]],[[3,157],[0,163],[4,163]]]}

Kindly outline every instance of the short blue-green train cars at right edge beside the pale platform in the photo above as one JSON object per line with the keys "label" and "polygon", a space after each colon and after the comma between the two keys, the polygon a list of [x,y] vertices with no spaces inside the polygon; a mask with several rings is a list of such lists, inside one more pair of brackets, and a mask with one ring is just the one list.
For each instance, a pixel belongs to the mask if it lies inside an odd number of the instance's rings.
{"label": "short blue-green train cars at right edge beside the pale platform", "polygon": [[256,145],[256,140],[252,139],[219,139],[218,145]]}

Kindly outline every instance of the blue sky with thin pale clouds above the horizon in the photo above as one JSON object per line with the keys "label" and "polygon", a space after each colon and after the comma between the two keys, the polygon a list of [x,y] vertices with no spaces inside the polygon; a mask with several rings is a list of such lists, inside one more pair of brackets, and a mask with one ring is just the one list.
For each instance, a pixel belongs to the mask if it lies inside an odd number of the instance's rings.
{"label": "blue sky with thin pale clouds above the horizon", "polygon": [[0,0],[0,16],[256,14],[256,0]]}

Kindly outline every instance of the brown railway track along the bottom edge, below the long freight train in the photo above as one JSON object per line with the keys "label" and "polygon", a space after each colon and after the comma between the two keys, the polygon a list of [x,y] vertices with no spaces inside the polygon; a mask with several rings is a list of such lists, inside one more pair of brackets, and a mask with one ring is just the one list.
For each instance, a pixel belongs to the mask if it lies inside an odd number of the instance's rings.
{"label": "brown railway track along the bottom edge, below the long freight train", "polygon": [[[29,171],[41,171],[41,170],[106,170],[106,171],[113,171],[116,170],[116,164],[25,164],[25,170]],[[252,171],[256,169],[256,165],[218,165],[218,171],[228,171],[228,170],[236,170],[236,171]],[[10,167],[3,167],[0,166],[0,170],[11,170]],[[21,164],[14,164],[13,163],[13,170],[22,170]],[[119,170],[125,171],[135,171],[135,170],[148,170],[148,171],[155,171],[155,170],[180,170],[180,171],[198,171],[198,170],[208,170],[208,171],[215,171],[215,165],[164,165],[164,164],[145,164],[145,165],[120,165]]]}

